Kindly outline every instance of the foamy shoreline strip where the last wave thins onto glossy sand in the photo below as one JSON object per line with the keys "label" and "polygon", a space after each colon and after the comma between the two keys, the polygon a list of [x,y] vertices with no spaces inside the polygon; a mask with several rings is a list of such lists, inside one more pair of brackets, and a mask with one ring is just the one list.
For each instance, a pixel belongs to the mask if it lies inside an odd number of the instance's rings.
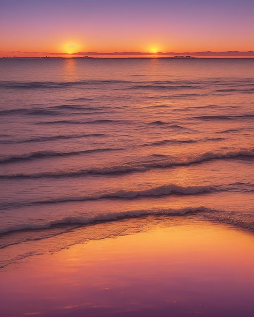
{"label": "foamy shoreline strip where the last wave thins onto glossy sand", "polygon": [[[123,235],[147,232],[151,226],[175,226],[182,221],[189,224],[192,222],[207,222],[211,226],[221,225],[232,227],[235,230],[253,234],[250,226],[236,225],[233,220],[222,221],[212,215],[207,215],[205,208],[199,207],[194,210],[178,210],[178,213],[150,213],[134,215],[118,215],[112,218],[105,217],[101,220],[63,219],[62,222],[52,221],[48,225],[30,225],[14,231],[0,234],[1,260],[0,270],[9,265],[19,265],[19,261],[30,256],[52,254],[72,245],[87,243],[88,241],[99,241],[108,236],[119,237]],[[65,222],[68,220],[68,222]],[[127,225],[126,225],[127,224]],[[54,246],[52,248],[51,246]],[[27,253],[27,249],[29,253]]]}

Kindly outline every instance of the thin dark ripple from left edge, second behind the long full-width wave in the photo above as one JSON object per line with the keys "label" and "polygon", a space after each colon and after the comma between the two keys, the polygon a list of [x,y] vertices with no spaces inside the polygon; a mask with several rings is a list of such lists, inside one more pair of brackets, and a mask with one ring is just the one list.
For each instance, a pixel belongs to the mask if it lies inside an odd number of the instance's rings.
{"label": "thin dark ripple from left edge, second behind the long full-width wave", "polygon": [[[88,137],[104,137],[108,136],[108,134],[102,133],[94,133],[94,134],[74,134],[74,135],[53,135],[48,137],[37,137],[31,139],[19,139],[19,140],[1,140],[0,143],[29,143],[29,142],[45,142],[45,141],[52,141],[52,140],[66,140],[66,139],[77,139],[77,138],[88,138]],[[23,154],[22,154],[23,155]],[[0,157],[1,163],[1,157]]]}

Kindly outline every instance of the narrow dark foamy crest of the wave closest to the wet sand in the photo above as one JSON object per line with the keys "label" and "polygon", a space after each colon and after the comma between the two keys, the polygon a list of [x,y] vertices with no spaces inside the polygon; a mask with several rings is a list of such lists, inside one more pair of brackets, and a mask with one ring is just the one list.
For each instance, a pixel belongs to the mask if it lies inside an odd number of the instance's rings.
{"label": "narrow dark foamy crest of the wave closest to the wet sand", "polygon": [[[62,219],[56,219],[45,222],[43,224],[38,223],[24,223],[19,225],[10,226],[0,229],[0,234],[17,231],[31,231],[49,229],[57,225],[86,225],[94,222],[107,222],[111,220],[118,220],[122,218],[139,217],[142,215],[185,215],[187,213],[203,212],[206,211],[205,207],[186,207],[181,209],[148,209],[148,210],[130,210],[112,214],[100,214],[94,217],[64,217]],[[38,239],[37,239],[38,240]]]}

